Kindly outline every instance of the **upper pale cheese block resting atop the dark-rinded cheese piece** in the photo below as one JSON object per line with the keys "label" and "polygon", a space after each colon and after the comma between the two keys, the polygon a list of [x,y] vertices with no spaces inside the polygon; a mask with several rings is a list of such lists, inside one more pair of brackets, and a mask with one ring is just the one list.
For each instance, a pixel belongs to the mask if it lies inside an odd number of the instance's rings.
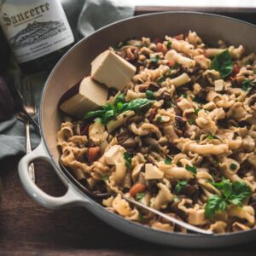
{"label": "upper pale cheese block resting atop the dark-rinded cheese piece", "polygon": [[91,77],[109,88],[123,90],[136,73],[136,67],[113,51],[105,50],[91,62]]}

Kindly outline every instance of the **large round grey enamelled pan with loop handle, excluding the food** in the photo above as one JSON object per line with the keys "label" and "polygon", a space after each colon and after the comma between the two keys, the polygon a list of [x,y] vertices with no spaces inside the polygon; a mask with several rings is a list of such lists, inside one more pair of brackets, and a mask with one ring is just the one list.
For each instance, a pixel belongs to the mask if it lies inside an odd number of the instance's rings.
{"label": "large round grey enamelled pan with loop handle, excluding the food", "polygon": [[[59,152],[56,147],[56,132],[61,125],[61,113],[57,102],[61,95],[84,75],[90,73],[90,61],[109,45],[117,44],[127,38],[163,38],[166,34],[179,34],[193,30],[208,44],[216,44],[224,39],[230,44],[243,44],[247,51],[255,52],[256,26],[219,15],[189,12],[167,12],[142,15],[105,26],[88,38],[84,38],[55,66],[44,86],[40,106],[40,129],[42,142],[31,154],[24,156],[19,163],[21,183],[35,201],[49,209],[81,206],[88,209],[106,223],[131,236],[146,241],[176,247],[224,247],[252,241],[256,230],[236,233],[201,236],[153,230],[143,224],[137,224],[108,212],[96,201],[84,195],[59,166]],[[67,186],[67,193],[61,197],[47,195],[32,183],[28,175],[28,166],[33,160],[46,160],[55,168],[55,172]]]}

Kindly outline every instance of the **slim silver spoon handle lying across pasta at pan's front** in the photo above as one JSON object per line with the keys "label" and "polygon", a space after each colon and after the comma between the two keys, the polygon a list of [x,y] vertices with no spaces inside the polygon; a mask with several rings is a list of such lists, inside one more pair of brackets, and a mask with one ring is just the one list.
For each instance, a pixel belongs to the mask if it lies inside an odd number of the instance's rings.
{"label": "slim silver spoon handle lying across pasta at pan's front", "polygon": [[143,209],[148,210],[148,212],[153,212],[155,215],[158,215],[161,218],[165,218],[166,220],[169,220],[172,223],[177,224],[177,225],[179,225],[179,226],[181,226],[181,227],[183,227],[187,230],[193,231],[195,233],[204,234],[204,235],[213,235],[212,231],[203,230],[203,229],[197,228],[193,225],[187,224],[187,223],[183,222],[182,220],[179,220],[177,218],[173,218],[172,216],[166,215],[165,213],[157,211],[157,210],[155,210],[151,207],[147,207],[147,206],[143,205],[142,203],[139,203],[138,201],[132,200],[131,198],[128,198],[126,196],[123,196],[123,198],[126,201],[130,202],[131,204],[133,204],[137,207],[142,207]]}

